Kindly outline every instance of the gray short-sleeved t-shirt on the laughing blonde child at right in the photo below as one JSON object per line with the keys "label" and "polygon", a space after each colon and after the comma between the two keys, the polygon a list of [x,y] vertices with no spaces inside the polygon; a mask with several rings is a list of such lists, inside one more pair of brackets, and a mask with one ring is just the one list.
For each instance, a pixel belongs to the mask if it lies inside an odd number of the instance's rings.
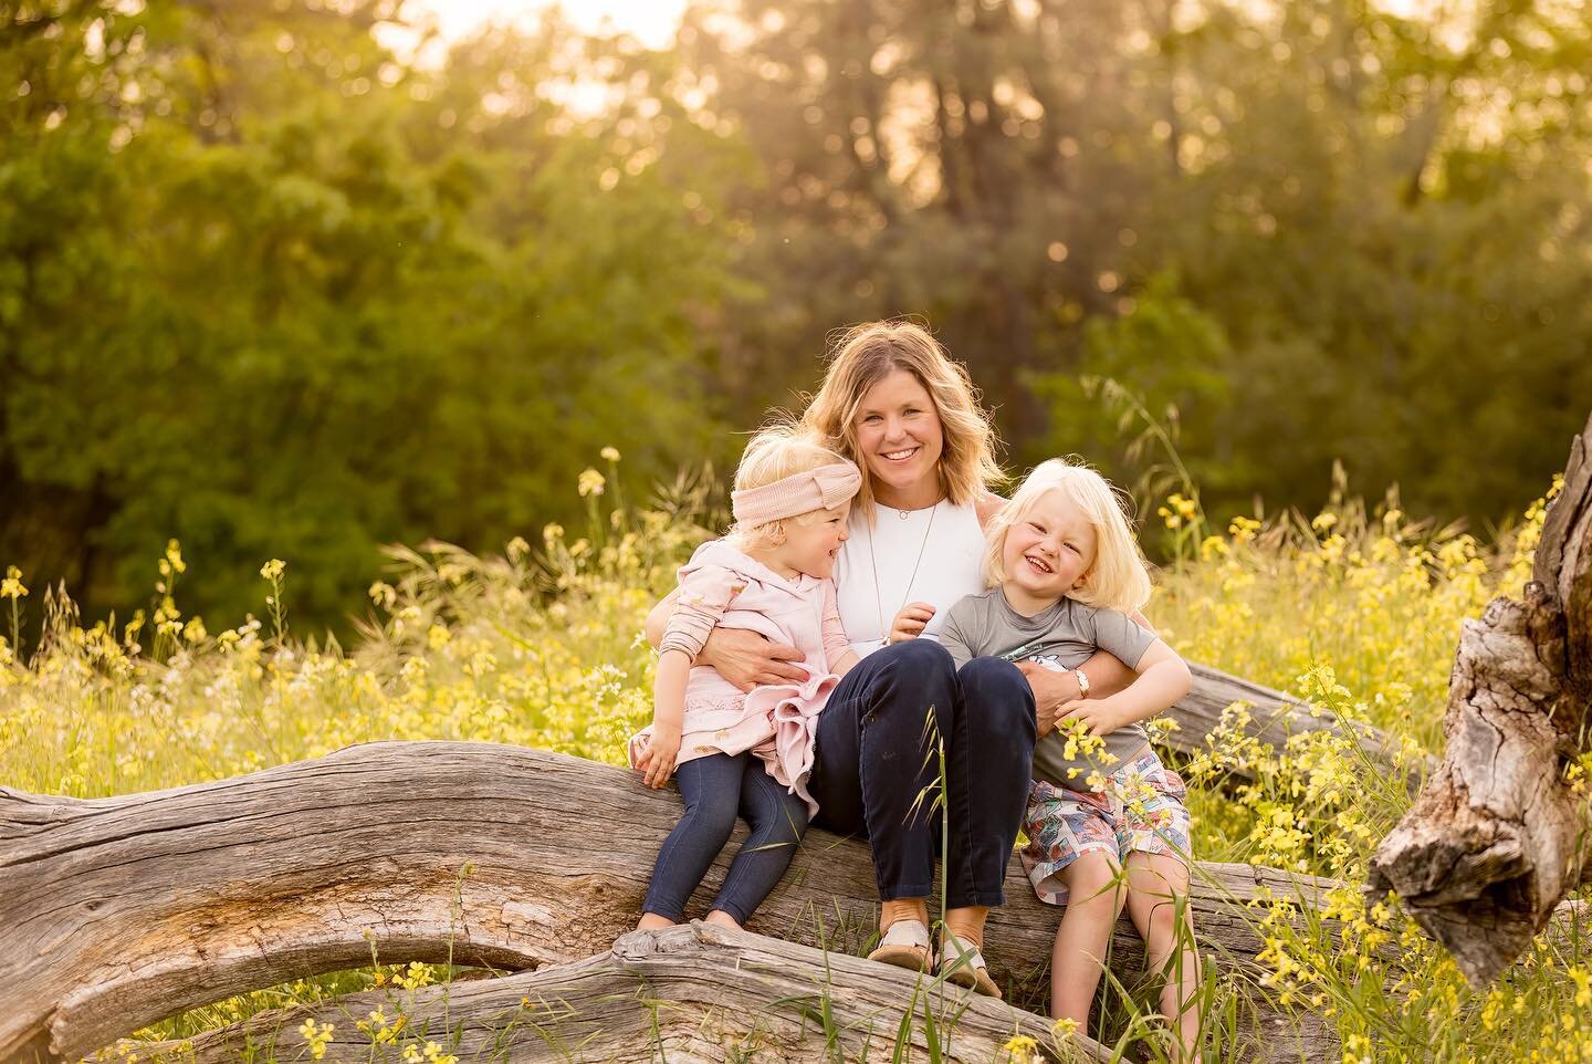
{"label": "gray short-sleeved t-shirt on the laughing blonde child at right", "polygon": [[[1028,659],[1076,669],[1095,650],[1105,650],[1129,669],[1137,669],[1156,636],[1124,613],[1071,599],[1024,616],[1011,608],[1000,588],[990,588],[950,607],[939,642],[957,659],[957,667],[982,655],[997,655],[1008,661]],[[1086,753],[1068,758],[1067,736],[1051,731],[1033,749],[1033,777],[1055,787],[1091,790],[1087,779],[1092,773],[1110,776],[1148,742],[1143,725],[1124,725],[1105,736],[1105,750],[1116,761],[1102,763]]]}

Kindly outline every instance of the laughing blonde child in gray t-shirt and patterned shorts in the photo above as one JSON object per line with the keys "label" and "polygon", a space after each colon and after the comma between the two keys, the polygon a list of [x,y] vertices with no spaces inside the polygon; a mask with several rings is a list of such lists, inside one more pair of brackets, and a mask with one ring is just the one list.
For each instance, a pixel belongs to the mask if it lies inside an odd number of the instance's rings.
{"label": "laughing blonde child in gray t-shirt and patterned shorts", "polygon": [[984,575],[990,589],[957,602],[939,636],[957,664],[1000,655],[1065,671],[1106,650],[1138,672],[1124,691],[1067,702],[1040,722],[1022,863],[1043,902],[1067,905],[1051,954],[1051,1015],[1087,1031],[1126,902],[1146,967],[1169,973],[1161,1008],[1175,1056],[1188,1059],[1199,1034],[1189,814],[1183,780],[1161,765],[1140,722],[1186,694],[1191,679],[1129,616],[1149,599],[1149,573],[1111,486],[1081,465],[1041,464],[990,522]]}

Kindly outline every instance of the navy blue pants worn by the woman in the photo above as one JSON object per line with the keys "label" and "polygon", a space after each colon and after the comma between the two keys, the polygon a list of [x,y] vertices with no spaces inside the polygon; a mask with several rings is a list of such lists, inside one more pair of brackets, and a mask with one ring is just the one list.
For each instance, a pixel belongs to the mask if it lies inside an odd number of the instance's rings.
{"label": "navy blue pants worn by the woman", "polygon": [[[930,715],[946,750],[942,814],[930,809],[939,779]],[[818,715],[817,823],[869,841],[879,897],[890,902],[935,892],[944,816],[946,906],[1001,905],[1035,741],[1033,688],[1017,666],[974,658],[958,672],[931,639],[882,647]]]}

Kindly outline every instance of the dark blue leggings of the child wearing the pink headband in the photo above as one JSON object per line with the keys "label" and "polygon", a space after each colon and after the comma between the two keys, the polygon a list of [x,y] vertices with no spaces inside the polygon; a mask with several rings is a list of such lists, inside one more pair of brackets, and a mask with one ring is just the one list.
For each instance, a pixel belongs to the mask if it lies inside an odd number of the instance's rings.
{"label": "dark blue leggings of the child wearing the pink headband", "polygon": [[675,782],[686,800],[686,812],[657,851],[642,908],[678,921],[691,892],[736,830],[739,811],[751,825],[751,835],[731,862],[713,908],[745,924],[796,855],[796,843],[807,830],[807,803],[769,776],[751,753],[694,758],[675,769]]}

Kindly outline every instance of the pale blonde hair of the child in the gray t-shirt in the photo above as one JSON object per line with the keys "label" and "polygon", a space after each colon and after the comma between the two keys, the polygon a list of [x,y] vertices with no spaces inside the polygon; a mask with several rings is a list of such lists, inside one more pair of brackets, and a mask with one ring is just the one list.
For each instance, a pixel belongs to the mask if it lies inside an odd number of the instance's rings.
{"label": "pale blonde hair of the child in the gray t-shirt", "polygon": [[995,586],[1006,580],[1001,554],[1006,534],[1022,521],[1041,495],[1059,491],[1070,499],[1095,530],[1095,557],[1083,583],[1067,597],[1084,605],[1134,613],[1149,602],[1149,564],[1127,521],[1130,500],[1103,476],[1073,459],[1051,459],[1028,473],[1011,502],[1000,508],[985,529],[984,580]]}

